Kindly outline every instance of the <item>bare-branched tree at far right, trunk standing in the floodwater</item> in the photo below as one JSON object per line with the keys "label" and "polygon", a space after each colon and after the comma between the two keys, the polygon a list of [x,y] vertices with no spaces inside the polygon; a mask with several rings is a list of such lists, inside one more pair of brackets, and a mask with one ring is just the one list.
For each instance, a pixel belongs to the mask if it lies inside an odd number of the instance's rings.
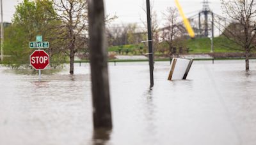
{"label": "bare-branched tree at far right, trunk standing in the floodwater", "polygon": [[254,0],[221,0],[222,8],[233,22],[226,27],[223,35],[241,47],[245,55],[245,69],[249,70],[249,57],[255,49],[256,2]]}

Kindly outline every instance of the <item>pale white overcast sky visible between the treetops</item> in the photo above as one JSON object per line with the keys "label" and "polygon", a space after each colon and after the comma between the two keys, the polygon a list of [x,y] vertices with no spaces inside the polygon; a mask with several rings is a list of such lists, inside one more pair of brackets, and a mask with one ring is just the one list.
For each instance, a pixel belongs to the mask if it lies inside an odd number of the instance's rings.
{"label": "pale white overcast sky visible between the treetops", "polygon": [[[118,19],[115,24],[141,23],[141,20],[147,20],[143,11],[143,3],[146,0],[105,0],[106,14],[116,15]],[[202,10],[203,0],[179,0],[187,17],[195,15]],[[3,0],[4,21],[11,22],[12,15],[15,12],[15,5],[21,0]],[[209,0],[210,8],[214,13],[221,15],[220,0]],[[150,3],[154,6],[154,11],[157,12],[157,17],[160,20],[163,17],[163,12],[167,7],[175,6],[174,0],[151,0]],[[161,23],[161,22],[160,22]]]}

